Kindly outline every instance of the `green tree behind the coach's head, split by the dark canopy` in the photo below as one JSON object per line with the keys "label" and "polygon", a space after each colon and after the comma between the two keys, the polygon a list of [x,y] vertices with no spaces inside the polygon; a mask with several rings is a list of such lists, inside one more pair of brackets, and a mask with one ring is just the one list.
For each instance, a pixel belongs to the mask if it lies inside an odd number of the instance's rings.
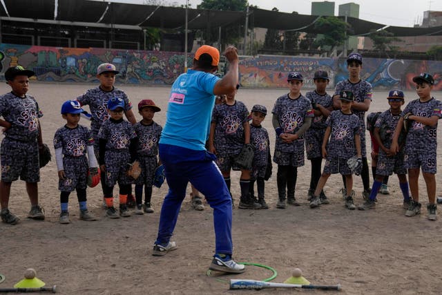
{"label": "green tree behind the coach's head, split by the dark canopy", "polygon": [[[230,11],[246,11],[249,3],[247,0],[202,0],[197,6],[198,9],[211,10],[230,10]],[[206,44],[213,44],[218,41],[219,28],[211,28],[209,32],[204,32]],[[244,19],[229,26],[223,27],[221,30],[222,44],[238,44],[238,41],[244,37]]]}

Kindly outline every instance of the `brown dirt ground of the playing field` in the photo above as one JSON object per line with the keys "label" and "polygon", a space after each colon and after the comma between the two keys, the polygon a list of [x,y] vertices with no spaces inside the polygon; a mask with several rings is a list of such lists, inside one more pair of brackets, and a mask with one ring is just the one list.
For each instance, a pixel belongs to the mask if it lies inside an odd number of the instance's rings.
{"label": "brown dirt ground of the playing field", "polygon": [[[41,118],[44,142],[50,145],[52,153],[52,137],[64,124],[59,115],[62,102],[75,99],[91,87],[88,84],[32,82],[30,94],[37,98],[44,112]],[[169,87],[123,85],[119,88],[128,93],[134,106],[141,99],[154,99],[162,108],[154,120],[164,125]],[[6,84],[0,84],[0,93],[8,91]],[[249,109],[259,103],[271,111],[276,98],[284,93],[287,93],[285,89],[241,89],[237,98]],[[387,109],[386,96],[385,92],[375,92],[370,111]],[[407,101],[416,97],[413,92],[406,96]],[[140,119],[140,115],[137,117]],[[89,125],[85,120],[80,123]],[[269,131],[273,148],[270,117],[264,126]],[[440,132],[438,136],[441,146]],[[438,160],[440,166],[441,153]],[[390,196],[378,196],[376,210],[345,209],[338,192],[342,185],[339,175],[332,175],[325,187],[331,204],[309,209],[310,165],[306,160],[306,166],[298,169],[296,184],[296,198],[302,206],[282,210],[275,207],[278,198],[276,167],[273,169],[273,177],[266,183],[270,209],[233,210],[236,260],[273,267],[278,272],[273,282],[283,282],[295,267],[300,267],[303,276],[313,284],[340,283],[341,294],[440,294],[442,218],[436,222],[427,220],[427,196],[422,179],[423,209],[420,216],[413,218],[404,216],[395,176],[390,178]],[[440,183],[439,175],[436,180]],[[355,202],[361,204],[360,178],[356,178],[355,186]],[[99,216],[96,222],[78,220],[78,203],[73,193],[70,197],[72,222],[60,225],[55,160],[41,169],[39,198],[46,211],[46,220],[26,219],[29,201],[25,185],[15,182],[10,209],[21,222],[15,226],[0,223],[0,274],[6,276],[0,288],[12,287],[23,278],[25,269],[33,267],[46,285],[57,285],[59,294],[256,294],[252,290],[229,290],[228,281],[231,278],[263,280],[271,276],[268,269],[251,265],[240,275],[206,275],[214,249],[213,218],[207,204],[204,211],[194,211],[187,198],[173,237],[178,249],[160,258],[151,255],[166,191],[167,185],[154,189],[155,213],[108,220],[101,207],[101,189],[88,189],[89,209]],[[238,173],[232,174],[232,193],[238,206]],[[440,187],[438,193],[441,193]],[[294,292],[323,294],[324,291],[261,291],[262,294]]]}

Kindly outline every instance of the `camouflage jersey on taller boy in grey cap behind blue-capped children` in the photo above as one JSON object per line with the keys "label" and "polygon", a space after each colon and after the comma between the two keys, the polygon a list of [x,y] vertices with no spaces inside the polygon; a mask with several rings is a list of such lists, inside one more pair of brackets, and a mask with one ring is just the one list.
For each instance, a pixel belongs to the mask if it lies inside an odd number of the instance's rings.
{"label": "camouflage jersey on taller boy in grey cap behind blue-capped children", "polygon": [[[94,138],[97,137],[96,135],[103,122],[109,119],[107,103],[112,97],[119,97],[124,100],[125,112],[131,110],[131,100],[128,99],[124,91],[119,90],[118,88],[113,88],[113,91],[104,91],[102,88],[97,86],[96,88],[86,91],[84,95],[77,97],[77,101],[81,104],[81,106],[88,105],[90,108],[90,115],[92,115],[90,130],[92,131]],[[98,144],[98,140],[96,141],[96,144]]]}

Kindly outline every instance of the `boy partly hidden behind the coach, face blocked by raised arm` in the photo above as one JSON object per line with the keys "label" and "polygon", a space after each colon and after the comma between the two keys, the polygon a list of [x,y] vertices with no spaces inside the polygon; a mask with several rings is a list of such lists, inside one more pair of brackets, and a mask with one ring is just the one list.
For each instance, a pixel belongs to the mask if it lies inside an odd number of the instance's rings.
{"label": "boy partly hidden behind the coach, face blocked by raised arm", "polygon": [[[216,164],[220,167],[222,177],[230,191],[230,171],[241,170],[240,176],[240,209],[260,209],[261,205],[249,196],[250,171],[235,166],[235,158],[244,144],[250,144],[250,125],[247,107],[235,99],[236,91],[227,95],[225,104],[215,105],[209,135],[209,151],[216,153]],[[232,198],[233,204],[233,198]]]}

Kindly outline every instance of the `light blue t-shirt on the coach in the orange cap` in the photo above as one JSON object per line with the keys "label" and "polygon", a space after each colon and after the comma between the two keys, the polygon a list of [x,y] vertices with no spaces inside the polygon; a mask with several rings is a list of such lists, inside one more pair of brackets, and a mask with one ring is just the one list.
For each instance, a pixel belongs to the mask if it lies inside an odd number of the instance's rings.
{"label": "light blue t-shirt on the coach in the orange cap", "polygon": [[215,105],[213,88],[219,79],[200,70],[188,70],[177,77],[169,95],[160,144],[205,149]]}

